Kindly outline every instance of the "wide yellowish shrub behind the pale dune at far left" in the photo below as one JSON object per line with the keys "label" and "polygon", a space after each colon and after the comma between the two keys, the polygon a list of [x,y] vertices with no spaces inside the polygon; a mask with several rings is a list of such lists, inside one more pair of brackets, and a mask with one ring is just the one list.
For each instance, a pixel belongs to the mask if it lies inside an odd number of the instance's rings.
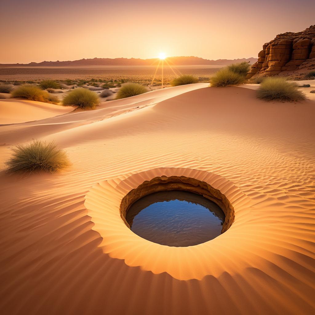
{"label": "wide yellowish shrub behind the pale dune at far left", "polygon": [[28,100],[37,100],[39,102],[46,103],[59,103],[58,98],[55,96],[49,95],[47,91],[43,91],[36,85],[32,84],[23,84],[20,85],[12,92],[13,97],[23,97]]}

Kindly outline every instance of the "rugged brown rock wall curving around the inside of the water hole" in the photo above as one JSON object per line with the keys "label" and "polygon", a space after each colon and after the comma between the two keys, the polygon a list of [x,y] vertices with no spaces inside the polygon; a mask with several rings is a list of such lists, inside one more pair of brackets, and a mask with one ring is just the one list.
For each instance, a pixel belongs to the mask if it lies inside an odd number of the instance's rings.
{"label": "rugged brown rock wall curving around the inside of the water hole", "polygon": [[126,213],[130,206],[140,198],[153,192],[182,190],[202,195],[215,202],[224,212],[225,221],[221,233],[225,232],[233,223],[235,215],[234,208],[229,200],[218,189],[213,188],[204,181],[185,176],[161,176],[152,180],[145,181],[137,188],[132,189],[120,204],[120,215],[125,224],[130,228],[126,221]]}

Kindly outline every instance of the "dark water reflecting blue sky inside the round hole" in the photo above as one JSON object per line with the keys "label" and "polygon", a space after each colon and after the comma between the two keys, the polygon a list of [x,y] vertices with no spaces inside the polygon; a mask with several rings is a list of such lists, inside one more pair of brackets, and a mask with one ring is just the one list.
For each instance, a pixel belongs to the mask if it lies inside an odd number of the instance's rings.
{"label": "dark water reflecting blue sky inside the round hole", "polygon": [[192,192],[168,191],[147,195],[129,208],[131,231],[151,242],[192,246],[221,234],[225,215],[214,202]]}

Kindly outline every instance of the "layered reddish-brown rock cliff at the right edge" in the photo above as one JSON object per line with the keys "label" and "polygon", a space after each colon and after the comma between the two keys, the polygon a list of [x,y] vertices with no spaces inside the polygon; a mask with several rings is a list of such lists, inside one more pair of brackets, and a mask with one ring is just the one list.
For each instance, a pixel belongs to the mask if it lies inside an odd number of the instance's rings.
{"label": "layered reddish-brown rock cliff at the right edge", "polygon": [[298,33],[286,32],[263,45],[247,78],[275,75],[285,70],[315,68],[315,25]]}

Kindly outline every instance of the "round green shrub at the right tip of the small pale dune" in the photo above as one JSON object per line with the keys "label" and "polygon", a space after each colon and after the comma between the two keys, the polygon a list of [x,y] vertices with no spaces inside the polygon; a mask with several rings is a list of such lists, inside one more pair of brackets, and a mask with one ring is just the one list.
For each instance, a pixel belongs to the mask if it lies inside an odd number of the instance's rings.
{"label": "round green shrub at the right tip of the small pale dune", "polygon": [[63,99],[62,104],[65,106],[78,106],[80,108],[95,108],[99,103],[98,96],[84,88],[77,88]]}

